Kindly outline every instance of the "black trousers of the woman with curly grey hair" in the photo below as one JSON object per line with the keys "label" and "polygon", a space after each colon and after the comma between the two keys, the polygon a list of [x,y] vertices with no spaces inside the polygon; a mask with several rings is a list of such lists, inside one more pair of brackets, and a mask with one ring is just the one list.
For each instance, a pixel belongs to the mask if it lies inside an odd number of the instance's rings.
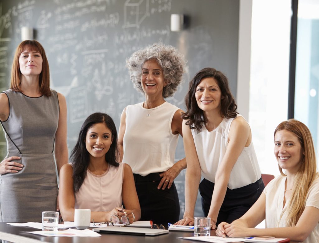
{"label": "black trousers of the woman with curly grey hair", "polygon": [[141,219],[167,225],[179,220],[180,205],[177,190],[173,183],[170,189],[157,189],[159,173],[145,177],[134,174],[138,200],[141,206]]}

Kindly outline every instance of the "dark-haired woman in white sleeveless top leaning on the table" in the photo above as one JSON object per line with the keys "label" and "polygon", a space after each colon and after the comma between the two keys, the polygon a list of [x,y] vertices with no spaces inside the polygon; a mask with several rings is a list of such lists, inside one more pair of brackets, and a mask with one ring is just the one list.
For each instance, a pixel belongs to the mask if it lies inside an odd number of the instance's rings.
{"label": "dark-haired woman in white sleeveless top leaning on the table", "polygon": [[249,210],[263,191],[263,180],[249,124],[236,112],[226,76],[202,69],[190,81],[185,102],[186,204],[184,218],[176,224],[194,223],[199,188],[204,215],[215,229]]}

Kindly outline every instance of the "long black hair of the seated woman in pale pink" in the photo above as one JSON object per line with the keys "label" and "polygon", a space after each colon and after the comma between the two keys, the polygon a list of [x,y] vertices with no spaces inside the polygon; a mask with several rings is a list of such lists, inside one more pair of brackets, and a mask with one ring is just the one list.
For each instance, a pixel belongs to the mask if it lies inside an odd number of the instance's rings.
{"label": "long black hair of the seated woman in pale pink", "polygon": [[72,150],[70,155],[70,161],[73,167],[72,177],[74,192],[78,192],[81,185],[83,184],[86,177],[86,170],[90,161],[89,152],[85,147],[86,133],[89,128],[97,123],[104,123],[112,132],[113,142],[110,146],[110,149],[105,154],[105,160],[108,162],[108,164],[114,165],[116,167],[119,166],[119,163],[116,161],[119,157],[119,152],[117,144],[117,132],[114,121],[109,115],[105,113],[97,112],[89,115],[85,119],[81,127],[78,142],[75,144],[74,149]]}

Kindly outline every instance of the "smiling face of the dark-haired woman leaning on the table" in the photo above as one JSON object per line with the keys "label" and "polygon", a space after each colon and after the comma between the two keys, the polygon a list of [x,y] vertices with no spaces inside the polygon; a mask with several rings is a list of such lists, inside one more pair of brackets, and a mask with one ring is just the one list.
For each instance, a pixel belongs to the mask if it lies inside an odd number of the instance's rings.
{"label": "smiling face of the dark-haired woman leaning on the table", "polygon": [[203,111],[220,110],[222,99],[220,88],[214,78],[204,78],[196,87],[197,105]]}

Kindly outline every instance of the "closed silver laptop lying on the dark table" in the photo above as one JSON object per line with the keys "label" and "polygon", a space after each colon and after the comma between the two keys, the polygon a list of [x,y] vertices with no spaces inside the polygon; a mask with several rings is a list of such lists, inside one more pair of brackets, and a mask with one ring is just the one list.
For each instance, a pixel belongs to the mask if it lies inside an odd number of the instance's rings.
{"label": "closed silver laptop lying on the dark table", "polygon": [[132,235],[144,235],[144,236],[168,234],[168,230],[137,228],[137,227],[120,227],[120,226],[107,226],[102,228],[94,228],[93,231],[99,232],[99,233],[132,234]]}

